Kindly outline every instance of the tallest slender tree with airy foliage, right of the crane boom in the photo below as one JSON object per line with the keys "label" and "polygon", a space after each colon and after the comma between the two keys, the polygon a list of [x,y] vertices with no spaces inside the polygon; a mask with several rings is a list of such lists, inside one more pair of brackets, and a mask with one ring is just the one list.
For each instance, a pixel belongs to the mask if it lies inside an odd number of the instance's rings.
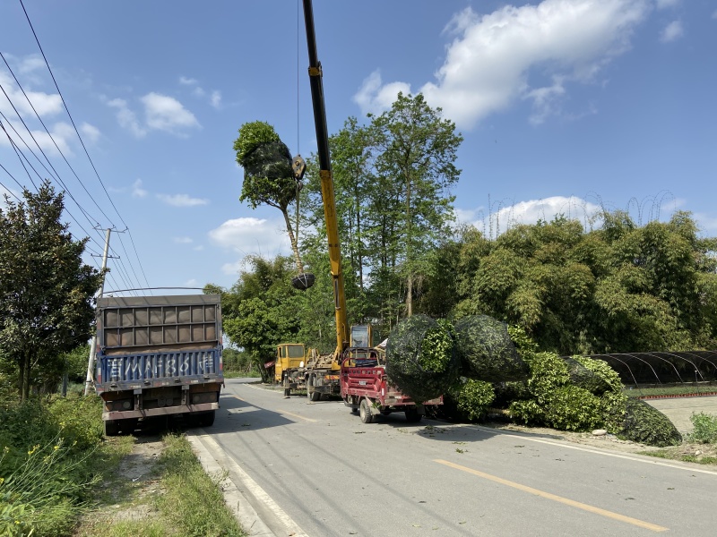
{"label": "tallest slender tree with airy foliage, right of the crane boom", "polygon": [[402,93],[390,110],[372,119],[370,132],[378,177],[368,211],[373,245],[378,266],[397,265],[410,316],[417,278],[427,272],[428,254],[454,219],[451,188],[460,175],[454,162],[462,136],[421,94]]}

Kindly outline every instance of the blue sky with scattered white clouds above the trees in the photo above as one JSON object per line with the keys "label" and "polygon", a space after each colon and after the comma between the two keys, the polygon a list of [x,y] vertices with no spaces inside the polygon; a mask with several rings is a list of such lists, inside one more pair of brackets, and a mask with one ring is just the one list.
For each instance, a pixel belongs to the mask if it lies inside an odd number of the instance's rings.
{"label": "blue sky with scattered white clouds above the trees", "polygon": [[[713,0],[315,0],[314,13],[329,132],[423,92],[464,137],[462,221],[495,236],[557,212],[587,223],[602,204],[642,223],[689,210],[717,235]],[[0,52],[0,190],[64,183],[95,254],[93,226],[128,227],[111,235],[107,290],[228,287],[246,255],[289,251],[279,211],[239,203],[232,144],[261,120],[292,153],[316,149],[298,0],[4,0]]]}

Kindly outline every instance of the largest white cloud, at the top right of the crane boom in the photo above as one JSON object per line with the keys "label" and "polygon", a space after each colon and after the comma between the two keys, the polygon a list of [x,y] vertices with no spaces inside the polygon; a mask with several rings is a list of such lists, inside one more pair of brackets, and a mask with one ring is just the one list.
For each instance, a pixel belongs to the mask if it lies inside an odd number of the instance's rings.
{"label": "largest white cloud, at the top right of the crane boom", "polygon": [[[544,0],[485,15],[466,8],[445,29],[454,40],[436,81],[418,92],[459,128],[470,129],[519,98],[533,101],[533,121],[540,123],[557,111],[566,82],[594,81],[605,64],[629,48],[650,6],[647,0]],[[551,85],[532,81],[536,73],[547,75]],[[384,84],[373,72],[354,99],[364,113],[381,112],[398,90],[408,92],[410,85]]]}

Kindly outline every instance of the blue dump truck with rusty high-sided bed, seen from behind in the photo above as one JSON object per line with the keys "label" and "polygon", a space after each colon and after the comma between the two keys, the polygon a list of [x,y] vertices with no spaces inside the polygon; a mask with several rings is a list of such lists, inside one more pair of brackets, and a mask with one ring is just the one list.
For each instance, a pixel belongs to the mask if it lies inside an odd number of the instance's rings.
{"label": "blue dump truck with rusty high-sided bed, seen from behind", "polygon": [[100,298],[97,337],[107,436],[172,414],[212,425],[224,383],[219,294]]}

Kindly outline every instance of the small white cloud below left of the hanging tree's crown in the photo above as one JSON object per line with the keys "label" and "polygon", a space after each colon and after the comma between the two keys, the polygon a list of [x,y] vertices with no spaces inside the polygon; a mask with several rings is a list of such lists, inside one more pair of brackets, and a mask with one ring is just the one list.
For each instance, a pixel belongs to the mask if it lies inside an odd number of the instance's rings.
{"label": "small white cloud below left of the hanging tree's crown", "polygon": [[[241,217],[227,220],[221,226],[209,232],[212,243],[242,256],[255,255],[286,255],[290,251],[289,239],[283,221],[265,218]],[[232,268],[236,274],[237,270]]]}

